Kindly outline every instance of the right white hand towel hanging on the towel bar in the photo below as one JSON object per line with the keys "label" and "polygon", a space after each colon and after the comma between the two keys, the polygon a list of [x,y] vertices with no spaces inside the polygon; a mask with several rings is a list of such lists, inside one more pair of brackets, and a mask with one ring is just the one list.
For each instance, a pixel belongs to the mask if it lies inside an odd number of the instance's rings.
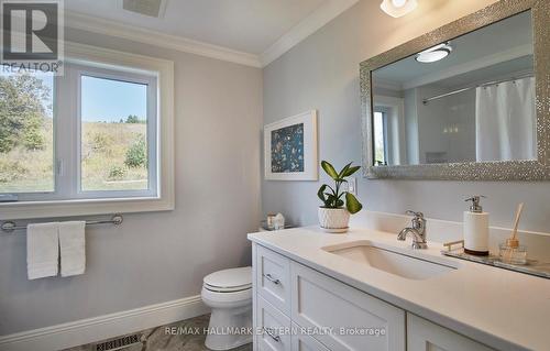
{"label": "right white hand towel hanging on the towel bar", "polygon": [[62,276],[82,274],[86,268],[85,221],[59,223]]}

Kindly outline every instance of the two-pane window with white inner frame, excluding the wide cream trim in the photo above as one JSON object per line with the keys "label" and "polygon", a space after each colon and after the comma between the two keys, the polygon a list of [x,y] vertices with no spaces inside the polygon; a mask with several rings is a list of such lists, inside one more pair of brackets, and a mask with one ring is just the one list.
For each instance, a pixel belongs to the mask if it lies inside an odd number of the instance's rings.
{"label": "two-pane window with white inner frame, excluding the wide cream trim", "polygon": [[1,79],[0,190],[8,198],[156,195],[155,76],[67,64],[59,77]]}

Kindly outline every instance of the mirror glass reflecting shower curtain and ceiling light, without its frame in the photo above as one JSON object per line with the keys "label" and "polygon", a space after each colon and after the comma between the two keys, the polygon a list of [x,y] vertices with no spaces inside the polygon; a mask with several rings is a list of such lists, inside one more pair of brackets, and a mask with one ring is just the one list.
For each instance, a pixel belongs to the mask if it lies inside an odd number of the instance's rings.
{"label": "mirror glass reflecting shower curtain and ceiling light, without its frame", "polygon": [[374,165],[537,160],[530,11],[376,69]]}

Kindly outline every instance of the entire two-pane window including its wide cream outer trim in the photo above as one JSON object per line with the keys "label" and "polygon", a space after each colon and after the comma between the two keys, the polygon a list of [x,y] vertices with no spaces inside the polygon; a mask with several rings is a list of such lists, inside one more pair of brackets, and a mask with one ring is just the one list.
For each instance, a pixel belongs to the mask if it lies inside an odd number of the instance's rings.
{"label": "entire two-pane window including its wide cream outer trim", "polygon": [[0,212],[173,208],[173,64],[68,46],[63,76],[0,75]]}

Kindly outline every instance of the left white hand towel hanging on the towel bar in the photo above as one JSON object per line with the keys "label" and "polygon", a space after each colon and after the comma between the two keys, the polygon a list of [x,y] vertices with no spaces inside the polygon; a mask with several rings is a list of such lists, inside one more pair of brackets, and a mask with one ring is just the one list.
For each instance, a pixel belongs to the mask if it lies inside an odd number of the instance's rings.
{"label": "left white hand towel hanging on the towel bar", "polygon": [[59,264],[58,223],[26,227],[26,274],[29,279],[56,276]]}

